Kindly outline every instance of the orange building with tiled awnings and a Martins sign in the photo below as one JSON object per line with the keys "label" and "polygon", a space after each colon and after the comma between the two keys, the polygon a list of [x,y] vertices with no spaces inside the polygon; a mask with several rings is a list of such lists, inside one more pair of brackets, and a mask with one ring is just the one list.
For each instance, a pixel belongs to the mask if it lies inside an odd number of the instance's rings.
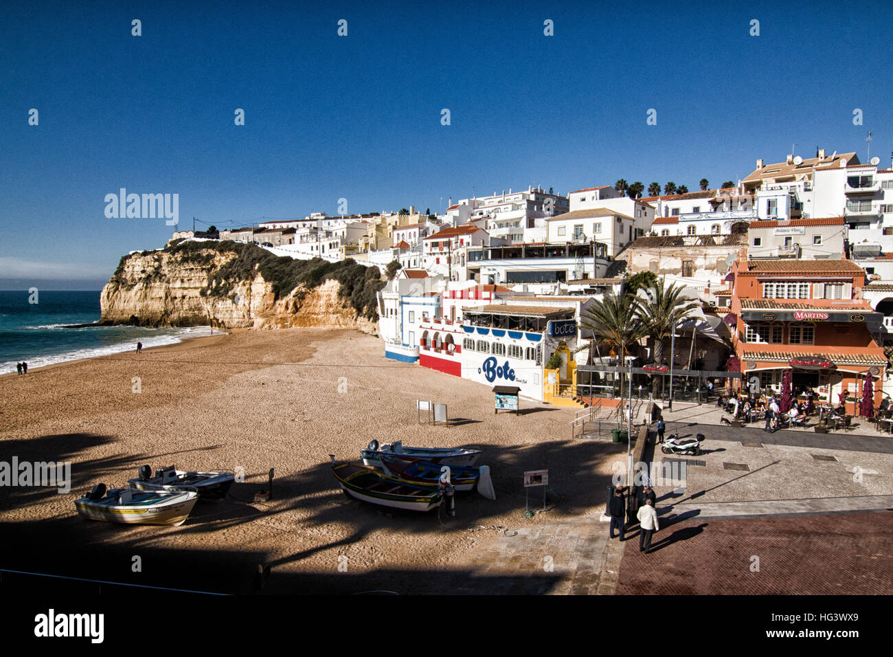
{"label": "orange building with tiled awnings and a Martins sign", "polygon": [[[872,338],[882,316],[862,298],[865,272],[851,260],[742,260],[731,267],[732,344],[742,384],[757,376],[761,389],[781,392],[791,371],[793,392],[814,388],[819,399],[859,400],[867,375],[874,405],[887,358]],[[849,412],[855,403],[847,403]]]}

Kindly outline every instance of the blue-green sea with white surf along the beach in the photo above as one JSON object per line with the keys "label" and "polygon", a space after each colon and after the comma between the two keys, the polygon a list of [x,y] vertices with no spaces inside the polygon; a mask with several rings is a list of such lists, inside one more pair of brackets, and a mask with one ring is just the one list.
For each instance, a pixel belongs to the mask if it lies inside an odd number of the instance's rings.
{"label": "blue-green sea with white surf along the beach", "polygon": [[31,369],[79,358],[173,344],[210,333],[207,326],[151,329],[140,326],[86,326],[99,321],[99,291],[0,291],[0,374],[15,372],[22,360]]}

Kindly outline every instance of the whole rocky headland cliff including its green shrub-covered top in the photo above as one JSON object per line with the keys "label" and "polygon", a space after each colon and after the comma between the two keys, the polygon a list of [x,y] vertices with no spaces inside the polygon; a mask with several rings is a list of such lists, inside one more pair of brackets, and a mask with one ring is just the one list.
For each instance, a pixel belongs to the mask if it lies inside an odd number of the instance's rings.
{"label": "whole rocky headland cliff including its green shrub-covered top", "polygon": [[235,242],[186,242],[122,257],[103,288],[100,321],[376,333],[374,295],[381,285],[376,268],[353,262],[291,260]]}

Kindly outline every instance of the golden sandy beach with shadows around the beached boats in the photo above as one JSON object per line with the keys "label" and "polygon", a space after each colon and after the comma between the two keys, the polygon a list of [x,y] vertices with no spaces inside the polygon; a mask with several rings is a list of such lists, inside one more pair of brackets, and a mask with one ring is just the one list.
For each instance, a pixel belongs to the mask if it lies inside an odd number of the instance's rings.
{"label": "golden sandy beach with shadows around the beached boats", "polygon": [[[420,425],[417,399],[447,403],[452,424]],[[473,577],[481,548],[501,529],[597,523],[612,464],[623,459],[619,445],[572,441],[570,409],[522,409],[495,415],[486,386],[390,361],[380,339],[346,330],[234,331],[4,375],[0,459],[70,460],[72,477],[68,494],[0,489],[0,527],[14,536],[4,564],[242,593],[262,564],[271,569],[267,593],[448,593],[450,581]],[[349,500],[328,455],[357,459],[373,438],[481,447],[497,501],[463,495],[449,518]],[[126,484],[143,464],[243,467],[246,482],[227,501],[197,505],[179,527],[77,517],[75,499],[99,482]],[[271,467],[274,498],[255,503]],[[539,468],[549,469],[555,509],[523,518],[522,472]],[[141,572],[131,569],[134,555]]]}

